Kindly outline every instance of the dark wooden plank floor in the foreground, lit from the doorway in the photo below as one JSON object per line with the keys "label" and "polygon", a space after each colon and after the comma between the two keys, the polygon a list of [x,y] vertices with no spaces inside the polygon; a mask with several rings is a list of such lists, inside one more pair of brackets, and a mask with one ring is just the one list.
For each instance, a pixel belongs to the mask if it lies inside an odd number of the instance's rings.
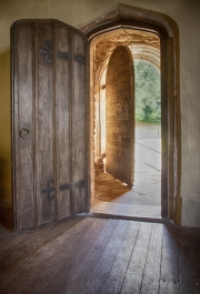
{"label": "dark wooden plank floor in the foreground, lit from the doorway", "polygon": [[199,294],[200,229],[74,217],[0,227],[0,293]]}

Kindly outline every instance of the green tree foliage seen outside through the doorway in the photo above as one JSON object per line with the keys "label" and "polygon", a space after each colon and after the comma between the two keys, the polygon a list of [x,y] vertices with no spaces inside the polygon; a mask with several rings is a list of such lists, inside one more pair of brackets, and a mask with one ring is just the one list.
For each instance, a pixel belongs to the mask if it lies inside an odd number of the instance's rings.
{"label": "green tree foliage seen outside through the doorway", "polygon": [[160,72],[150,63],[134,61],[136,121],[160,123]]}

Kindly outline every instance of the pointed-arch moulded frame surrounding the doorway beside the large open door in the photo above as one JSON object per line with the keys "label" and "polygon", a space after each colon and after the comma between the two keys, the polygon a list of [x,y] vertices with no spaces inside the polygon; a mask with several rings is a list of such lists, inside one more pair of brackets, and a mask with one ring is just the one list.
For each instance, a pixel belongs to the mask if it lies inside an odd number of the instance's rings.
{"label": "pointed-arch moulded frame surrounding the doorway beside the large open door", "polygon": [[[179,30],[168,16],[117,4],[102,18],[81,28],[90,44],[94,37],[117,28],[147,30],[160,37],[161,44],[161,216],[180,223],[180,91],[179,91]],[[93,169],[93,59],[90,50],[90,194],[94,201]]]}

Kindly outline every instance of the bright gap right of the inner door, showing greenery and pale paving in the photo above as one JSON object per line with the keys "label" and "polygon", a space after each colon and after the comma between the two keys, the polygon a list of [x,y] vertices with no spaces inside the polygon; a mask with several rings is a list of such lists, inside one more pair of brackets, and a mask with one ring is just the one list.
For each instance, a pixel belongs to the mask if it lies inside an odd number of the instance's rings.
{"label": "bright gap right of the inner door, showing greenery and pale paving", "polygon": [[[146,216],[161,216],[161,92],[160,67],[134,60],[136,166],[134,203]],[[138,192],[138,193],[137,193]]]}

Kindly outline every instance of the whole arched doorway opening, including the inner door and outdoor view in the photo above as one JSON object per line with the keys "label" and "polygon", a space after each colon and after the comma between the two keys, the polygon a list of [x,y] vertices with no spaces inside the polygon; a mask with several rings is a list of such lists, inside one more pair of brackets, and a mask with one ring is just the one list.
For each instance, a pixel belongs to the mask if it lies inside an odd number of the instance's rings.
{"label": "whole arched doorway opening, including the inner door and outdoor view", "polygon": [[[96,77],[96,201],[91,212],[160,219],[160,124],[153,119],[158,108],[159,122],[161,115],[160,39],[152,32],[122,28],[93,38],[91,48]],[[124,52],[118,57],[120,48]],[[140,82],[137,60],[146,64],[140,65],[140,71],[146,69]],[[158,99],[151,68],[159,75]]]}

